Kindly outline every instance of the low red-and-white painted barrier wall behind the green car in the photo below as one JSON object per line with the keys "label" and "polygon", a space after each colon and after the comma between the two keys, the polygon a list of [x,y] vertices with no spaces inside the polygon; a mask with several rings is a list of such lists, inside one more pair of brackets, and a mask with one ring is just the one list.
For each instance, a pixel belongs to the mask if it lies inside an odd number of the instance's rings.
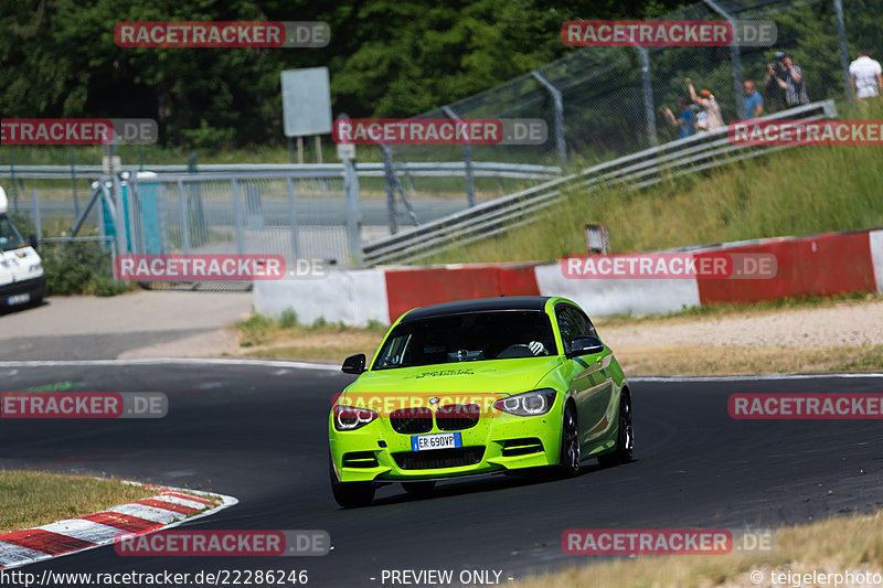
{"label": "low red-and-white painted barrier wall behind the green car", "polygon": [[331,271],[321,279],[255,282],[255,309],[292,308],[304,322],[391,323],[411,308],[497,296],[564,296],[591,316],[646,314],[720,302],[883,292],[883,229],[781,237],[700,247],[774,254],[769,279],[571,279],[558,263],[489,264]]}

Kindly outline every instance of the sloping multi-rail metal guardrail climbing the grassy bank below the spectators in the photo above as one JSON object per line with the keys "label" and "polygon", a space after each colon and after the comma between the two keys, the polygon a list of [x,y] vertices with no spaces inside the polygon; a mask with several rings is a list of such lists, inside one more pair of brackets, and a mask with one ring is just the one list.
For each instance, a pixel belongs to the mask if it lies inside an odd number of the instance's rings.
{"label": "sloping multi-rail metal guardrail climbing the grassy bank below the spectators", "polygon": [[[758,120],[815,120],[836,117],[837,107],[833,100],[825,100],[783,110]],[[365,265],[406,263],[426,257],[455,242],[457,245],[465,245],[499,235],[535,221],[538,214],[547,213],[547,209],[563,197],[563,189],[593,189],[597,185],[623,183],[629,184],[630,189],[640,189],[664,179],[786,148],[787,146],[733,145],[727,139],[726,128],[688,137],[379,239],[363,248],[363,260]]]}

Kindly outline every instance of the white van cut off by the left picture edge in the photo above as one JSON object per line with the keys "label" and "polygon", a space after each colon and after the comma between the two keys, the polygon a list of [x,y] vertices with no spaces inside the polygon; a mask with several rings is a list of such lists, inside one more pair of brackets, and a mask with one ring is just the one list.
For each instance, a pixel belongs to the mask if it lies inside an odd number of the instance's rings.
{"label": "white van cut off by the left picture edge", "polygon": [[0,310],[39,304],[46,290],[35,239],[24,240],[9,217],[9,200],[0,186]]}

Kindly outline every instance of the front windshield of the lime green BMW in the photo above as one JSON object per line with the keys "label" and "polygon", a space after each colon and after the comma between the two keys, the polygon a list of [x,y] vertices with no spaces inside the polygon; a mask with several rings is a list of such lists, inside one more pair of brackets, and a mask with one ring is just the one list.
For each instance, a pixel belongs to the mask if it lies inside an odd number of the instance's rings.
{"label": "front windshield of the lime green BMW", "polygon": [[469,312],[400,323],[381,349],[374,370],[554,353],[545,312]]}

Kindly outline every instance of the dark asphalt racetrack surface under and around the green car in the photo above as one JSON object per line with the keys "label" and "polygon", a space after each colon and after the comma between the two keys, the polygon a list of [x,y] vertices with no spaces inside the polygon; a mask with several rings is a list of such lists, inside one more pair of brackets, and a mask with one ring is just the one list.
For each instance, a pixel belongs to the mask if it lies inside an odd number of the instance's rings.
{"label": "dark asphalt racetrack surface under and around the green car", "polygon": [[[294,365],[294,364],[292,364]],[[733,393],[880,392],[881,377],[632,382],[636,460],[571,480],[485,477],[429,499],[381,489],[340,510],[328,483],[327,410],[351,376],[281,362],[0,363],[4,392],[64,385],[166,392],[162,419],[0,421],[0,468],[89,473],[213,490],[235,507],[183,528],[327,530],[323,557],[123,557],[103,547],[23,568],[191,574],[306,569],[309,586],[371,587],[383,569],[502,570],[522,579],[593,562],[562,553],[567,528],[800,524],[883,504],[874,420],[733,420]],[[377,578],[372,580],[371,578]],[[455,582],[455,586],[459,586]]]}

